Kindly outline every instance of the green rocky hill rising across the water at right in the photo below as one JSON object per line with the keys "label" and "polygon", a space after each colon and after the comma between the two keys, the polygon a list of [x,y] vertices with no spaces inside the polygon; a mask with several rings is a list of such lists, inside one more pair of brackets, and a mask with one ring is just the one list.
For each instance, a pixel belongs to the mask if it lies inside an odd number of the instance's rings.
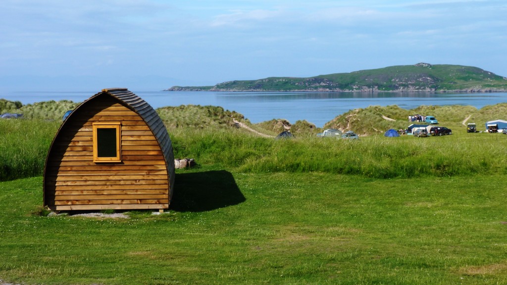
{"label": "green rocky hill rising across the water at right", "polygon": [[478,67],[417,63],[308,78],[269,77],[214,86],[173,86],[165,91],[318,91],[318,92],[498,92],[507,78]]}

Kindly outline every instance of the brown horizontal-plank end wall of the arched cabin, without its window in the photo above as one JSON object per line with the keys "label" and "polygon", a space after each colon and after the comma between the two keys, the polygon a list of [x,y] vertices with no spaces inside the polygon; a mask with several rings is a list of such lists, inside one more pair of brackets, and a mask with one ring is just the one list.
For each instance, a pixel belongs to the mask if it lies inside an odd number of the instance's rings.
{"label": "brown horizontal-plank end wall of the arched cabin, without its window", "polygon": [[[46,204],[54,210],[168,208],[167,165],[146,122],[112,97],[86,103],[86,111],[77,109],[53,142]],[[93,162],[96,121],[121,122],[121,163]]]}

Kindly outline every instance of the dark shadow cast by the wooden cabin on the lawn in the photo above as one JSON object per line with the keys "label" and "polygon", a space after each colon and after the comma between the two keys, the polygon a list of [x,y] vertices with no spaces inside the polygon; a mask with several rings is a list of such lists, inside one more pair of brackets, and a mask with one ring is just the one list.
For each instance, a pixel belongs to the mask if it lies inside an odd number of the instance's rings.
{"label": "dark shadow cast by the wooden cabin on the lawn", "polygon": [[180,212],[209,211],[246,201],[234,180],[225,170],[177,173],[174,204]]}

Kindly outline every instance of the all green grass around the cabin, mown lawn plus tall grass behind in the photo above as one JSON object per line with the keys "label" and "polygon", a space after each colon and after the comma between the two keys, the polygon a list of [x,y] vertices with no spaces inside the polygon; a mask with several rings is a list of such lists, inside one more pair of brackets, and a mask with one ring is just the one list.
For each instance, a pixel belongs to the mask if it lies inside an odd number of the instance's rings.
{"label": "all green grass around the cabin, mown lawn plus tall grass behind", "polygon": [[0,121],[0,169],[11,173],[0,182],[0,279],[507,283],[507,135],[453,124],[449,136],[358,141],[169,127],[175,157],[199,164],[177,170],[170,211],[94,219],[41,216],[37,165],[59,122]]}

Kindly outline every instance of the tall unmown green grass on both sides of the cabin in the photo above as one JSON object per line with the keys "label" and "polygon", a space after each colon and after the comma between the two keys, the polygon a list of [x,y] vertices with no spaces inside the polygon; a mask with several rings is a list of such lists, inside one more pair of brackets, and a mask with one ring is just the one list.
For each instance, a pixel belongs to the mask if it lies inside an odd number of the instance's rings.
{"label": "tall unmown green grass on both sides of the cabin", "polygon": [[[42,175],[59,121],[0,120],[0,180]],[[192,125],[192,124],[190,124]],[[168,126],[176,158],[240,172],[327,172],[393,177],[507,173],[507,136],[466,133],[359,140],[265,138],[233,127]]]}

